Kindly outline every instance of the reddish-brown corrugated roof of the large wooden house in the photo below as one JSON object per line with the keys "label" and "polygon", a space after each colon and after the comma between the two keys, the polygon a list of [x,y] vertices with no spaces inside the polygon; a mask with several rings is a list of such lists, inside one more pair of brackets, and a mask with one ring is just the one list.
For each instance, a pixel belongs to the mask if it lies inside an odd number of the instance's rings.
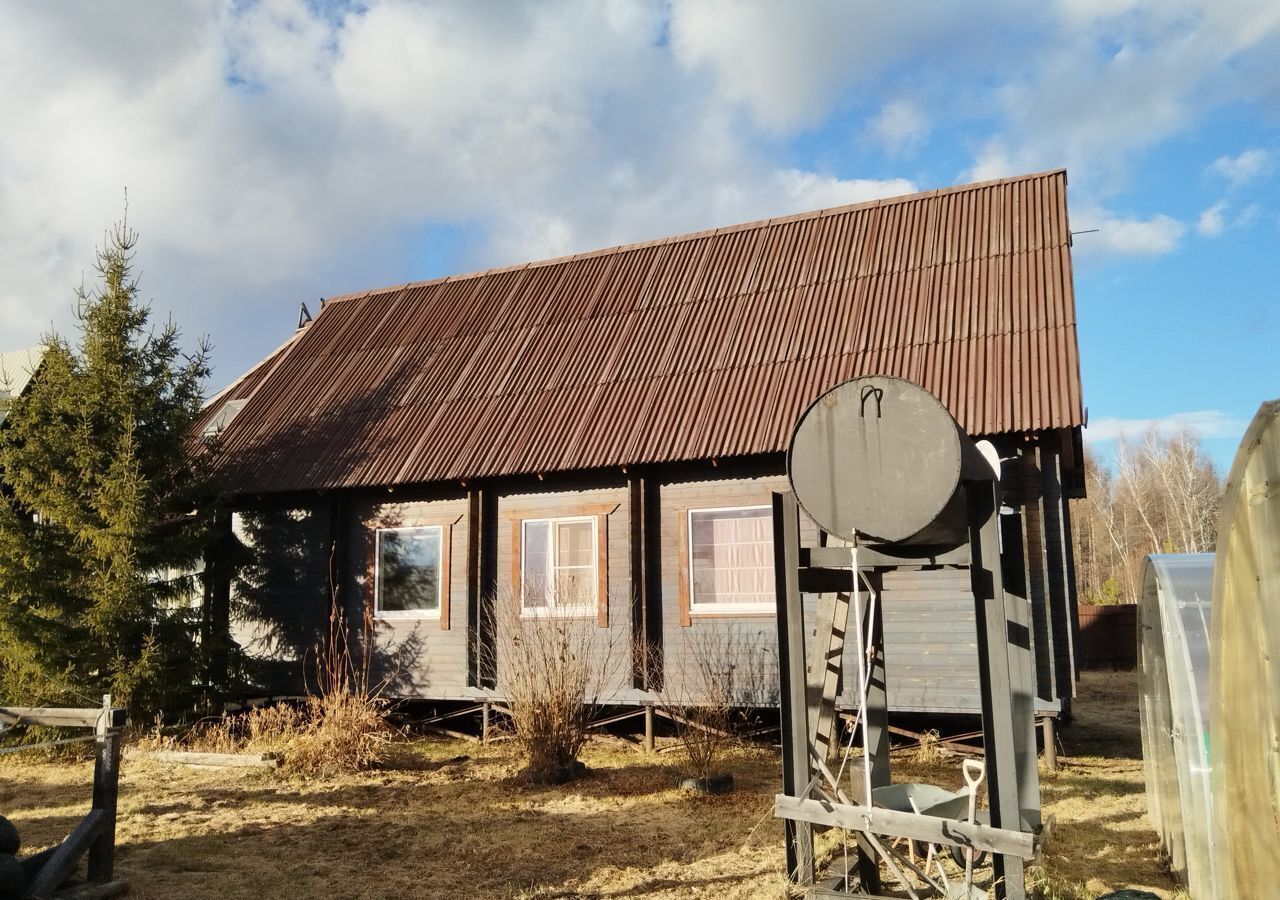
{"label": "reddish-brown corrugated roof of the large wooden house", "polygon": [[859,374],[1076,428],[1069,248],[1057,170],[366,291],[209,417],[236,493],[777,453]]}

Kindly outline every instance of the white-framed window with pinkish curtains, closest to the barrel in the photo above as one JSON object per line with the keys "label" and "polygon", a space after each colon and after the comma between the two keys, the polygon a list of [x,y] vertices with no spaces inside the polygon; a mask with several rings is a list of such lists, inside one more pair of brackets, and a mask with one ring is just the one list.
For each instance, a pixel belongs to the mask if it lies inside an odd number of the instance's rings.
{"label": "white-framed window with pinkish curtains, closest to the barrel", "polygon": [[692,612],[772,612],[773,517],[769,507],[689,511]]}

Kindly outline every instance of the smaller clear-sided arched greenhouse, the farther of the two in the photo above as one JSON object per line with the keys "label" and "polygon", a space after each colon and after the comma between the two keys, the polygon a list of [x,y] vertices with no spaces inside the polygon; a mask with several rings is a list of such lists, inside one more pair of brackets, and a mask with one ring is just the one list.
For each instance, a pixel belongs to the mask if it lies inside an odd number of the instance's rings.
{"label": "smaller clear-sided arched greenhouse, the farther of the two", "polygon": [[1208,762],[1213,554],[1149,556],[1138,654],[1147,807],[1170,868],[1196,900],[1217,900]]}

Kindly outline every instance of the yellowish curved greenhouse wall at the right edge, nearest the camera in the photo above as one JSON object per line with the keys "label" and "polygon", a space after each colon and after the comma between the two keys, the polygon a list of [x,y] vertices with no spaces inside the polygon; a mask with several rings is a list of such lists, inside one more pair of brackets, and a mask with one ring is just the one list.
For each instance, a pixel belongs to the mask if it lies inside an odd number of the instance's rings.
{"label": "yellowish curved greenhouse wall at the right edge, nearest the camera", "polygon": [[1280,401],[1244,433],[1213,572],[1213,826],[1224,897],[1280,897]]}

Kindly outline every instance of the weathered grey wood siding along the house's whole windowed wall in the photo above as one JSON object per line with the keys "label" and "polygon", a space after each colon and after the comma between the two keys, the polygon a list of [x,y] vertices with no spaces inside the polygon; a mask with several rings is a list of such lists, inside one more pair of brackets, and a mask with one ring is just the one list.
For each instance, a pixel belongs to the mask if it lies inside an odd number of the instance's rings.
{"label": "weathered grey wood siding along the house's whole windowed wall", "polygon": [[[1055,472],[1051,465],[1046,469]],[[708,466],[708,475],[718,474]],[[1066,522],[1055,515],[1060,504],[1060,492],[1053,478],[1046,479],[1043,518],[1046,520],[1044,550],[1055,544],[1061,547]],[[595,615],[581,617],[593,640],[603,654],[602,671],[608,671],[611,686],[602,698],[612,703],[652,702],[658,694],[634,686],[634,622],[641,609],[636,600],[640,585],[632,584],[639,571],[632,566],[631,544],[635,539],[631,521],[632,493],[625,476],[617,483],[596,479],[590,486],[570,490],[563,484],[541,488],[530,485],[527,490],[508,488],[497,494],[490,527],[495,530],[493,542],[494,584],[484,603],[498,611],[512,604],[515,579],[518,572],[520,522],[525,518],[593,515],[603,520],[603,545],[605,548],[605,603]],[[644,571],[653,581],[649,609],[657,612],[660,630],[662,691],[673,694],[696,693],[700,676],[699,663],[714,657],[718,664],[730,664],[745,702],[772,705],[777,702],[777,623],[773,609],[755,615],[694,613],[682,603],[687,598],[687,511],[716,507],[768,506],[774,490],[786,490],[787,480],[781,475],[756,478],[709,478],[704,480],[655,481],[657,499],[650,503],[657,515],[653,534],[657,540],[655,558]],[[253,524],[265,542],[257,558],[257,584],[238,579],[237,586],[248,586],[234,598],[238,612],[236,634],[251,654],[270,663],[264,671],[273,672],[264,689],[284,691],[301,687],[303,657],[323,636],[328,620],[329,593],[326,585],[332,565],[330,548],[339,547],[340,565],[335,574],[340,579],[343,606],[352,626],[353,641],[365,618],[366,604],[372,604],[374,534],[375,529],[411,525],[448,525],[449,575],[447,618],[388,618],[374,620],[374,652],[376,679],[388,679],[388,690],[396,696],[440,700],[476,699],[488,691],[468,681],[468,663],[477,655],[468,647],[468,617],[477,600],[468,591],[468,540],[470,507],[463,497],[447,499],[383,499],[385,495],[349,497],[343,499],[317,499],[314,508],[294,511],[269,511],[246,513],[237,520],[238,533],[247,534]],[[334,525],[334,511],[342,526]],[[1028,518],[1039,530],[1036,517]],[[599,534],[599,533],[598,533]],[[801,540],[813,547],[818,543],[815,526],[803,518]],[[1061,666],[1056,681],[1062,682],[1064,672],[1070,673],[1071,629],[1064,622],[1070,609],[1071,597],[1064,568],[1069,559],[1061,553],[1036,552],[1034,567],[1043,572],[1034,603],[1051,604],[1050,629],[1041,625],[1034,635],[1041,647],[1052,645]],[[1047,557],[1047,558],[1046,558]],[[266,563],[276,566],[270,570]],[[653,570],[657,568],[654,574]],[[1047,571],[1046,571],[1047,570]],[[883,576],[882,616],[884,622],[886,664],[888,671],[888,702],[891,709],[914,712],[977,713],[980,709],[978,687],[977,638],[974,604],[969,585],[969,572],[963,567],[927,567],[896,570]],[[1044,583],[1048,583],[1047,585]],[[271,595],[266,603],[268,594]],[[470,595],[468,595],[470,594]],[[252,600],[252,602],[246,602]],[[805,617],[810,627],[817,598],[805,597]],[[486,608],[489,608],[486,606]],[[270,615],[264,616],[268,611]],[[257,616],[244,615],[246,611]],[[1042,612],[1043,615],[1043,612]],[[1039,623],[1039,622],[1037,622]],[[1064,629],[1064,625],[1066,626]],[[812,639],[812,635],[809,636]],[[500,670],[502,639],[479,653],[497,657]],[[1065,644],[1065,647],[1064,647]],[[854,640],[850,634],[845,650],[845,676],[840,703],[856,703],[856,662]],[[502,682],[499,673],[499,685]],[[292,679],[292,681],[291,681]],[[1070,690],[1070,680],[1061,684]],[[500,690],[499,690],[500,694]],[[1042,698],[1043,699],[1043,698]]]}

